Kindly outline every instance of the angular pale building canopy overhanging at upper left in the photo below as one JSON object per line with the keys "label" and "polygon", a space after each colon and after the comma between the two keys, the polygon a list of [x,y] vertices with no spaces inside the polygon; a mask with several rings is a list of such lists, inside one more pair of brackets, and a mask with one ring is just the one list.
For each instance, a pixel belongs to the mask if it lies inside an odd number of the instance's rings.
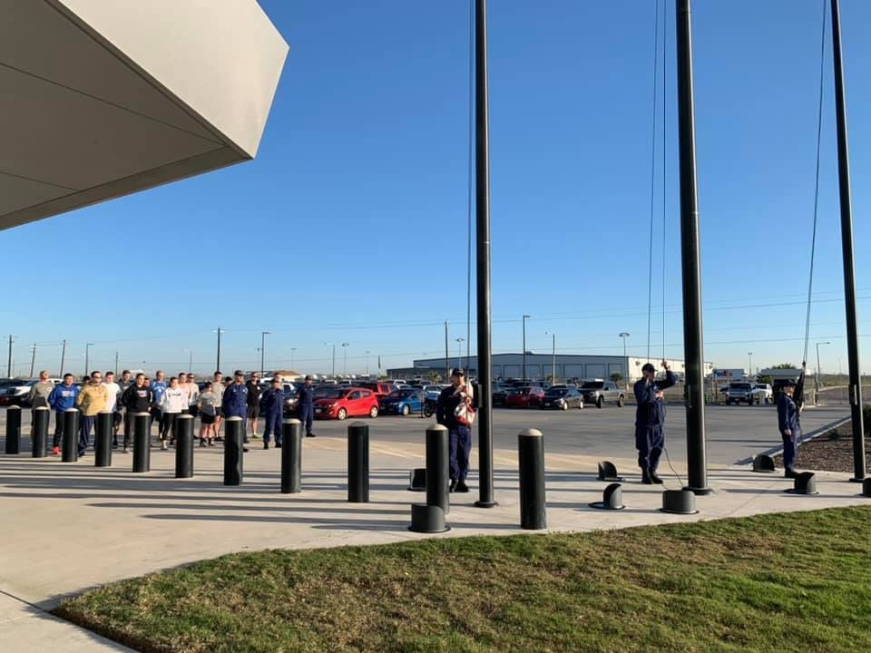
{"label": "angular pale building canopy overhanging at upper left", "polygon": [[252,159],[287,54],[256,0],[0,0],[0,229]]}

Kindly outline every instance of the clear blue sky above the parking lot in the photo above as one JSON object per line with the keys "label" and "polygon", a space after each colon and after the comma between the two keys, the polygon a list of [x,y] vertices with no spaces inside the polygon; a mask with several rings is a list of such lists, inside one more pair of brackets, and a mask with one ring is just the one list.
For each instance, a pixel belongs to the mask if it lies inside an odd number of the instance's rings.
{"label": "clear blue sky above the parking lot", "polygon": [[[822,0],[694,3],[705,358],[800,362]],[[290,44],[256,161],[5,231],[15,364],[374,371],[466,336],[468,4],[262,0]],[[668,3],[666,354],[682,357]],[[493,346],[647,351],[654,0],[490,3]],[[871,298],[871,3],[844,0],[860,333]],[[843,282],[827,50],[812,343],[837,370]],[[661,117],[659,121],[661,124]],[[661,145],[660,145],[661,147]],[[657,154],[657,159],[661,154]],[[661,167],[654,354],[661,352]],[[788,270],[788,274],[783,274]],[[474,303],[474,302],[473,302]],[[475,329],[473,327],[473,336]],[[473,344],[473,352],[475,351]],[[813,348],[813,344],[811,345]],[[862,339],[864,369],[871,342]],[[370,355],[366,356],[366,351]],[[2,358],[0,358],[2,360]],[[144,361],[144,364],[142,363]],[[93,366],[93,365],[92,365]],[[4,370],[5,372],[5,370]]]}

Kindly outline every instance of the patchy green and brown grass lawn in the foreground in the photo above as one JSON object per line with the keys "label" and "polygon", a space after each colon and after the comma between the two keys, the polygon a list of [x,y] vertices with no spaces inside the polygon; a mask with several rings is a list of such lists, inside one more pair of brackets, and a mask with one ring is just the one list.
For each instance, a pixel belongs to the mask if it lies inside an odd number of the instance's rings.
{"label": "patchy green and brown grass lawn in the foreground", "polygon": [[871,649],[871,507],[264,551],[55,613],[152,653]]}

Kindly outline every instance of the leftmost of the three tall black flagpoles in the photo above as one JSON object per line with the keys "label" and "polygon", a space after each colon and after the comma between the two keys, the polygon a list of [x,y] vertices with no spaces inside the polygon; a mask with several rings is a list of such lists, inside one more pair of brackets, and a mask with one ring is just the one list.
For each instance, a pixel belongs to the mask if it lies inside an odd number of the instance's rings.
{"label": "leftmost of the three tall black flagpoles", "polygon": [[490,314],[490,102],[487,96],[487,2],[475,0],[475,281],[478,339],[479,508],[493,492],[493,351]]}

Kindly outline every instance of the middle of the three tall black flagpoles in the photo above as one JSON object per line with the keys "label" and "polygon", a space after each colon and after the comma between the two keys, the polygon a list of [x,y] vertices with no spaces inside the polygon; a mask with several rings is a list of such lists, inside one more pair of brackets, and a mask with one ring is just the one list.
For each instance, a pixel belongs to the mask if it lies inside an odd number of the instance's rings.
{"label": "middle of the three tall black flagpoles", "polygon": [[683,342],[686,361],[688,490],[710,494],[705,443],[703,327],[699,246],[699,185],[693,106],[690,0],[677,0],[678,134],[680,161],[680,260],[683,281]]}

